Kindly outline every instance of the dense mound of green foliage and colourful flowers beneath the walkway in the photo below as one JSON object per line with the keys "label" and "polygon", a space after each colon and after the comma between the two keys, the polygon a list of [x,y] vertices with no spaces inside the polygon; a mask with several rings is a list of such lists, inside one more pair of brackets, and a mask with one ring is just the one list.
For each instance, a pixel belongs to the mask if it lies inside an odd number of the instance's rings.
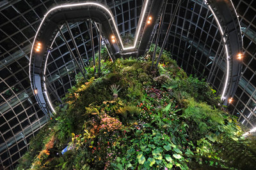
{"label": "dense mound of green foliage and colourful flowers beneath the walkway", "polygon": [[255,139],[215,91],[170,52],[150,70],[151,55],[86,68],[17,169],[254,169]]}

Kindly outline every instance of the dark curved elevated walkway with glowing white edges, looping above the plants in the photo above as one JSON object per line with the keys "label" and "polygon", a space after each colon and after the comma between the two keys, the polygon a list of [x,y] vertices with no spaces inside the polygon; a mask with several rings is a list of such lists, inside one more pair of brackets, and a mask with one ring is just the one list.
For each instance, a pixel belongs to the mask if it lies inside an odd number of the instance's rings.
{"label": "dark curved elevated walkway with glowing white edges, looping above the plants", "polygon": [[[140,20],[134,36],[133,46],[124,47],[115,19],[108,7],[97,2],[65,4],[49,10],[42,20],[33,42],[29,62],[29,78],[36,100],[42,111],[47,115],[54,111],[47,94],[45,84],[45,70],[47,66],[47,49],[52,45],[56,34],[66,21],[80,21],[92,19],[102,25],[102,32],[106,37],[106,46],[113,57],[136,53],[141,55],[148,48],[148,42],[152,39],[155,23],[166,1],[145,0],[141,10]],[[227,78],[223,87],[223,99],[227,102],[227,96],[233,96],[241,72],[241,61],[236,59],[237,53],[242,50],[241,30],[237,20],[236,11],[231,1],[206,1],[212,10],[219,25],[227,50]],[[147,24],[148,17],[152,15],[152,24]],[[225,32],[223,31],[225,30]],[[111,42],[111,36],[115,36],[115,43]],[[37,44],[41,44],[36,51]]]}

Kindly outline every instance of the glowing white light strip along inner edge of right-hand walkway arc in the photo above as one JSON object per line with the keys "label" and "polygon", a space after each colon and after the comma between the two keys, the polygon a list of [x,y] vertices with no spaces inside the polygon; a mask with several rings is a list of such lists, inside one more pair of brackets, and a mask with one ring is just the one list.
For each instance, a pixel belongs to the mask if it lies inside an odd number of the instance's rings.
{"label": "glowing white light strip along inner edge of right-hand walkway arc", "polygon": [[[219,29],[220,29],[221,36],[223,36],[223,35],[224,35],[224,32],[223,32],[223,29],[222,29],[222,27],[221,27],[221,25],[220,25],[220,22],[219,22],[218,18],[216,17],[216,15],[215,15],[214,11],[212,10],[211,6],[207,3],[207,0],[204,0],[204,1],[205,1],[205,4],[208,5],[209,9],[212,11],[212,15],[214,16],[214,18],[215,18],[215,20],[216,20],[216,22],[217,22],[217,24],[218,24],[218,27],[219,27]],[[228,79],[229,79],[229,59],[230,59],[230,57],[229,57],[229,55],[228,55],[228,46],[226,45],[227,39],[226,39],[225,37],[223,37],[223,41],[224,41],[224,43],[225,43],[225,50],[226,50],[226,55],[227,55],[227,74],[226,74],[226,80],[225,80],[224,89],[223,89],[223,92],[222,92],[222,94],[221,94],[221,100],[222,100],[222,101],[224,101],[224,100],[227,98],[227,97],[225,96],[225,94],[226,94],[227,86],[228,86]]]}

